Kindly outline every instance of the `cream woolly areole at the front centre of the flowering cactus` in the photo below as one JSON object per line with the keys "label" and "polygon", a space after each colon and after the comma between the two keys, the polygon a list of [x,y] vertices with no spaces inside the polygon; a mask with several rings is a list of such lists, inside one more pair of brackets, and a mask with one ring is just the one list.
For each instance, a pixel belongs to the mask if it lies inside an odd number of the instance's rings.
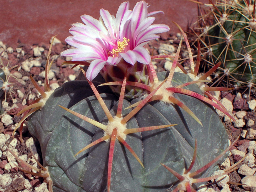
{"label": "cream woolly areole at the front centre of the flowering cactus", "polygon": [[107,124],[107,129],[104,131],[104,136],[106,136],[106,135],[111,136],[113,130],[116,128],[117,129],[116,137],[119,136],[119,137],[122,137],[125,140],[126,139],[126,134],[124,133],[124,130],[127,129],[126,128],[127,124],[126,123],[122,124],[121,123],[122,119],[123,119],[122,117],[120,118],[120,117],[115,116],[114,121],[112,121],[112,122],[109,121],[108,124]]}

